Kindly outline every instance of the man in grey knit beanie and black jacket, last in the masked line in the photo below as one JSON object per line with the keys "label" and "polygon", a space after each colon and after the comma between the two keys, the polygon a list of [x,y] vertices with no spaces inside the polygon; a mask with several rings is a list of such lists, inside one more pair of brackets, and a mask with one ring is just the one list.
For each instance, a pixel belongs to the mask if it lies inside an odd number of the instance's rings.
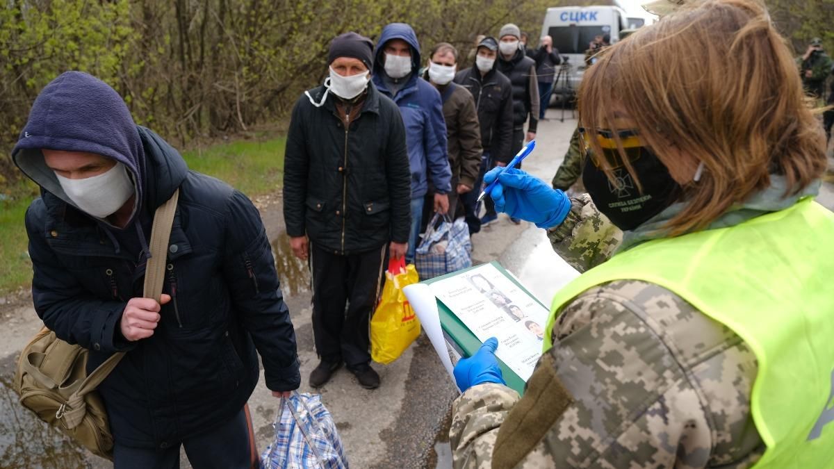
{"label": "man in grey knit beanie and black jacket, last in the masked line", "polygon": [[[510,154],[521,151],[525,140],[535,139],[535,131],[539,126],[539,78],[535,74],[535,60],[527,57],[520,48],[521,30],[513,23],[501,27],[498,34],[498,63],[495,66],[500,73],[510,78],[513,84],[513,137],[510,144]],[[528,118],[529,116],[529,118]],[[524,125],[527,124],[525,136]],[[501,162],[499,166],[505,165]],[[498,218],[495,206],[489,197],[486,198],[486,214],[481,223],[489,224]],[[520,219],[512,218],[513,223],[521,223]]]}

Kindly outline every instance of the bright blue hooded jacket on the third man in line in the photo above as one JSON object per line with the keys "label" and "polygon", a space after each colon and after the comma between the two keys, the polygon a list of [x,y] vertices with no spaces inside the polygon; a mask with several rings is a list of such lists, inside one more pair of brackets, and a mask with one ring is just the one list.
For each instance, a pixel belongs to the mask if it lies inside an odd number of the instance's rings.
{"label": "bright blue hooded jacket on the third man in line", "polygon": [[[391,39],[402,39],[411,46],[411,74],[408,83],[394,96],[385,86],[384,46]],[[420,78],[420,43],[414,29],[405,23],[391,23],[382,30],[374,52],[374,84],[381,93],[394,99],[403,115],[405,141],[411,167],[411,197],[422,197],[428,181],[441,194],[452,189],[452,171],[446,149],[446,122],[443,100],[431,83]]]}

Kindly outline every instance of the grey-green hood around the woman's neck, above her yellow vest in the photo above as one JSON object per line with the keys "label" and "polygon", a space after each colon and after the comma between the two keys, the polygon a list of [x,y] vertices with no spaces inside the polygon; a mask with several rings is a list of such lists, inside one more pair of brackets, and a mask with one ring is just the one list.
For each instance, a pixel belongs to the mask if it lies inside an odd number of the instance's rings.
{"label": "grey-green hood around the woman's neck, above her yellow vest", "polygon": [[[785,195],[787,190],[787,180],[785,176],[778,174],[771,174],[771,185],[766,189],[762,189],[756,194],[752,194],[741,204],[735,204],[722,214],[715,221],[713,221],[706,229],[719,229],[735,226],[741,224],[748,219],[756,218],[757,216],[777,212],[779,210],[791,207],[800,199],[806,197],[814,197],[820,192],[820,180],[809,184],[805,189],[802,189],[797,194]],[[623,233],[623,241],[617,247],[616,252],[629,250],[636,245],[640,245],[646,241],[657,240],[668,237],[668,232],[664,229],[664,225],[673,219],[677,214],[681,213],[686,207],[686,201],[671,204],[660,214],[656,214],[654,218],[649,219],[646,223],[641,224],[636,229],[625,231]]]}

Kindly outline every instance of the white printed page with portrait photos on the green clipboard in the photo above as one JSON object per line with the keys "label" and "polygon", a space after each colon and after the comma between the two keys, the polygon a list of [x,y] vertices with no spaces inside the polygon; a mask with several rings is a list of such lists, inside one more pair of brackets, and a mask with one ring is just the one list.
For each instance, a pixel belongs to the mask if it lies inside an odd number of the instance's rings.
{"label": "white printed page with portrait photos on the green clipboard", "polygon": [[549,311],[495,265],[485,264],[430,285],[481,342],[496,337],[495,354],[522,380],[541,356]]}

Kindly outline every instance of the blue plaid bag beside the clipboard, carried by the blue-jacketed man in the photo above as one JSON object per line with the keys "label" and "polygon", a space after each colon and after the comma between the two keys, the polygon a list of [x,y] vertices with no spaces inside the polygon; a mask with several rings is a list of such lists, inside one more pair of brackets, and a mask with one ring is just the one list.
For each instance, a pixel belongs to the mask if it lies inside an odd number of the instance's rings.
{"label": "blue plaid bag beside the clipboard, carried by the blue-jacketed man", "polygon": [[465,219],[452,222],[448,216],[435,214],[426,226],[425,235],[414,255],[420,280],[433,279],[472,266],[472,242]]}

